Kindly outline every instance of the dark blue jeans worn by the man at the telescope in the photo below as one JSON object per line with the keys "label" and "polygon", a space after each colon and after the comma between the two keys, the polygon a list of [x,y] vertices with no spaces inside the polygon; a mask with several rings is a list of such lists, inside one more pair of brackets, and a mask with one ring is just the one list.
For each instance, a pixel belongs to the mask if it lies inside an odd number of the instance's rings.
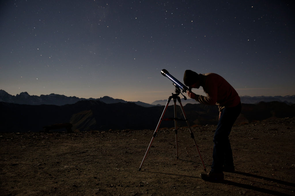
{"label": "dark blue jeans worn by the man at the telescope", "polygon": [[224,108],[221,111],[220,119],[214,134],[212,172],[222,172],[222,166],[232,167],[232,148],[228,136],[232,130],[232,125],[241,113],[242,104],[232,108]]}

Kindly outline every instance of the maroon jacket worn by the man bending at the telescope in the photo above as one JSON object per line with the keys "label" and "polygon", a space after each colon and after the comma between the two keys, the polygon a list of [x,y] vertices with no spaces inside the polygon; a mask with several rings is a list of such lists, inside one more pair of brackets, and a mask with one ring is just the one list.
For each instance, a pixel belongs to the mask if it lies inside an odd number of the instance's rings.
{"label": "maroon jacket worn by the man bending at the telescope", "polygon": [[[201,74],[200,74],[201,75]],[[225,107],[234,107],[240,103],[240,97],[235,89],[216,73],[202,74],[201,84],[207,97],[199,95],[196,101],[207,105],[217,105],[219,111]]]}

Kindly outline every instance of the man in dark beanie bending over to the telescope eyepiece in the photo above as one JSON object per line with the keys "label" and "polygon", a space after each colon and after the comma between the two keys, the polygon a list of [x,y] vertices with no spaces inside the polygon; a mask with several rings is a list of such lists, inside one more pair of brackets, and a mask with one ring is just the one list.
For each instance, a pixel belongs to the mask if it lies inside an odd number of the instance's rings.
{"label": "man in dark beanie bending over to the telescope eyepiece", "polygon": [[201,178],[207,181],[223,180],[223,171],[235,171],[228,136],[230,135],[232,125],[241,112],[242,104],[240,97],[235,89],[216,73],[197,74],[194,71],[186,70],[183,82],[190,89],[202,86],[207,94],[207,96],[201,96],[189,90],[186,93],[190,98],[207,105],[216,104],[219,108],[219,121],[213,138],[214,147],[211,171],[201,173]]}

